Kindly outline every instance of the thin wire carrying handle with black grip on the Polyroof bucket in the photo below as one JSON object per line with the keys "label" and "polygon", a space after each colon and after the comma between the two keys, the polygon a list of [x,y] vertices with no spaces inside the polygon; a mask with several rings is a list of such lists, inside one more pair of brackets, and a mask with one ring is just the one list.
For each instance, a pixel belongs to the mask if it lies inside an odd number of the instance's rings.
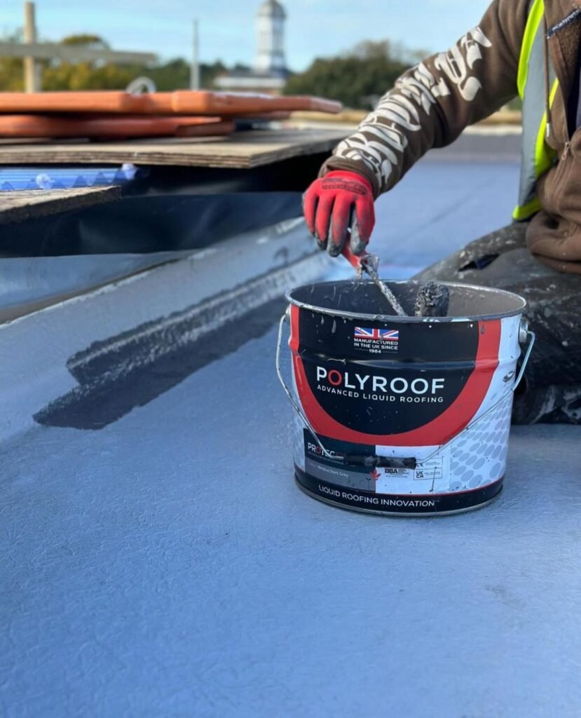
{"label": "thin wire carrying handle with black grip on the Polyroof bucket", "polygon": [[[280,369],[280,351],[282,349],[283,345],[283,331],[284,331],[284,325],[285,322],[288,322],[288,309],[283,314],[282,317],[280,317],[280,323],[278,325],[278,342],[276,345],[276,373],[278,376],[278,381],[280,381],[281,386],[283,387],[286,396],[288,396],[288,401],[291,402],[291,406],[293,406],[293,409],[296,411],[296,414],[299,416],[301,421],[303,421],[303,424],[307,427],[307,429],[311,432],[313,435],[313,439],[318,444],[318,447],[323,452],[323,456],[326,457],[326,459],[329,459],[334,462],[341,462],[343,464],[347,465],[355,465],[355,466],[367,466],[369,468],[373,467],[385,467],[385,468],[392,468],[392,469],[415,469],[418,465],[418,460],[415,458],[409,458],[409,459],[398,459],[396,457],[384,457],[384,456],[359,456],[356,454],[346,454],[339,460],[339,457],[336,456],[336,454],[331,454],[321,443],[321,439],[318,438],[318,435],[313,429],[313,425],[311,424],[311,421],[308,420],[306,414],[304,413],[303,409],[301,409],[301,406],[297,404],[295,401],[295,398],[293,396],[293,393],[286,385],[285,379],[283,377],[282,370]],[[506,399],[511,398],[516,389],[520,386],[521,381],[524,378],[524,372],[526,370],[526,365],[529,363],[529,359],[531,358],[532,350],[534,348],[534,342],[537,340],[537,335],[529,329],[528,322],[523,319],[521,320],[521,326],[519,329],[519,344],[524,344],[524,342],[528,341],[528,345],[526,347],[526,353],[524,355],[524,359],[522,360],[521,368],[519,370],[519,375],[516,377],[516,380],[514,382],[514,385],[512,388],[504,393],[501,398],[499,398],[499,401],[496,401],[490,409],[487,409],[481,416],[478,416],[478,419],[473,421],[471,424],[468,424],[459,434],[456,434],[455,437],[452,437],[448,442],[445,444],[441,444],[438,449],[435,450],[428,458],[423,459],[422,463],[428,462],[433,457],[435,457],[437,454],[442,451],[442,449],[445,449],[449,447],[451,444],[453,444],[456,439],[459,439],[464,432],[467,432],[470,429],[473,429],[474,426],[479,424],[483,419],[486,419],[486,416],[489,414],[492,414],[492,412],[497,409]]]}

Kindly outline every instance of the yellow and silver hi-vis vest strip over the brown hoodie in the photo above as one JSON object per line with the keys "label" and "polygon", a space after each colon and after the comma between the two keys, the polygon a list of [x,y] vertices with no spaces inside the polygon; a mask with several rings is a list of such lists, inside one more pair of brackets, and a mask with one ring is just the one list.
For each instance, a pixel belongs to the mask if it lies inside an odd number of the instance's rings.
{"label": "yellow and silver hi-vis vest strip over the brown hoodie", "polygon": [[[546,82],[544,76],[544,0],[532,0],[529,18],[524,29],[519,59],[517,85],[522,100],[522,157],[519,205],[513,213],[515,220],[528,220],[541,209],[537,197],[537,180],[556,159],[554,150],[545,141],[547,136]],[[552,106],[559,81],[552,65],[549,67]]]}

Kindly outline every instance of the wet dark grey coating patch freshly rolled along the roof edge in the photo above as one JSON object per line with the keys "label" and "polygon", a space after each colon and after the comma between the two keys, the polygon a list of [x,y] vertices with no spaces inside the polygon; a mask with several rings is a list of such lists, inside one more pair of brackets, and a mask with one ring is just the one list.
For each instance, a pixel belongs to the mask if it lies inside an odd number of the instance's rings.
{"label": "wet dark grey coating patch freshly rolled along the roof edge", "polygon": [[103,429],[251,339],[265,335],[285,307],[283,297],[273,299],[202,335],[196,330],[216,321],[217,308],[194,315],[185,310],[95,342],[67,362],[80,386],[44,407],[34,421],[43,426]]}

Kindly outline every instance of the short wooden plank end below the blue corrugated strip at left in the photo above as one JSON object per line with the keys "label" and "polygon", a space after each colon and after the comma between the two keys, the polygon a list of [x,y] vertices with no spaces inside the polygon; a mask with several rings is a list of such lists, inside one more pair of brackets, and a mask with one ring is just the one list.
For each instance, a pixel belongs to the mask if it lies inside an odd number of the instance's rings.
{"label": "short wooden plank end below the blue corrugated strip at left", "polygon": [[121,197],[120,187],[0,192],[0,225],[77,210]]}

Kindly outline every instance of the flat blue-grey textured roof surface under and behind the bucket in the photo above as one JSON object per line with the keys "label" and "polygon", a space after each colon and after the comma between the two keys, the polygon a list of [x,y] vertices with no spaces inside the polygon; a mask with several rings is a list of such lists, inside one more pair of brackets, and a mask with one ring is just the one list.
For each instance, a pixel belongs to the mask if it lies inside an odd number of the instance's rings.
{"label": "flat blue-grey textured roof surface under and behind the bucket", "polygon": [[[516,176],[413,169],[378,203],[384,274],[506,222]],[[331,508],[293,482],[264,319],[100,430],[4,442],[0,712],[578,716],[579,430],[514,429],[504,493],[476,513]]]}

